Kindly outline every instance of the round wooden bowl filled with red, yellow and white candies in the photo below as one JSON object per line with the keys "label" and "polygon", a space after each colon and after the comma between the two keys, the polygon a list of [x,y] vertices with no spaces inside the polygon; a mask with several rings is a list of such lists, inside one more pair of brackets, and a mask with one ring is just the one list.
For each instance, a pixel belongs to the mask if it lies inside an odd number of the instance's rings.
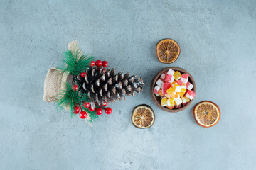
{"label": "round wooden bowl filled with red, yellow and white candies", "polygon": [[151,81],[151,98],[167,112],[179,112],[191,105],[196,96],[196,83],[185,69],[168,67],[158,72]]}

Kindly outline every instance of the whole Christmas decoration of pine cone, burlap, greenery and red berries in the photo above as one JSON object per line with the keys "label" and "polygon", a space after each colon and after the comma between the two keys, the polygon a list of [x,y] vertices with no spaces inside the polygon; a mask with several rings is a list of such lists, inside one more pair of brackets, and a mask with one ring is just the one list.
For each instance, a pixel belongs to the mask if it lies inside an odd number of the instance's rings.
{"label": "whole Christmas decoration of pine cone, burlap, greenery and red berries", "polygon": [[137,75],[106,70],[106,61],[93,61],[93,57],[82,53],[77,42],[70,42],[68,47],[63,53],[63,67],[48,71],[43,100],[57,102],[58,108],[70,110],[72,117],[79,113],[82,119],[95,120],[102,110],[112,113],[110,107],[105,108],[107,103],[143,90],[144,81]]}

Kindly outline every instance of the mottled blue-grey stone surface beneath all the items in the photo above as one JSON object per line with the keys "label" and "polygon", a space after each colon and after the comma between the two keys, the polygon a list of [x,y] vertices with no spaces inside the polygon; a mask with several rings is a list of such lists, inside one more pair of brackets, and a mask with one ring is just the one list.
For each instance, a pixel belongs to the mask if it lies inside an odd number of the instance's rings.
{"label": "mottled blue-grey stone surface beneath all the items", "polygon": [[[254,0],[1,0],[0,169],[256,169],[255,8]],[[157,60],[163,38],[181,47],[173,64]],[[42,100],[46,73],[72,40],[146,82],[93,128]],[[195,101],[181,113],[164,113],[150,98],[151,79],[169,66],[196,80]],[[213,128],[193,120],[203,100],[222,111]],[[145,130],[130,120],[142,103],[156,113]]]}

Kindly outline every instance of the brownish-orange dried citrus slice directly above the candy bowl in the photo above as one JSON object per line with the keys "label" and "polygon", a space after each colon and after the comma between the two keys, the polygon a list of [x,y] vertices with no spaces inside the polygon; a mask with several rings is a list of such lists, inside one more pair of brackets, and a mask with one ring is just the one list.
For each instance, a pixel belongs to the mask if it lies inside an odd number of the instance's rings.
{"label": "brownish-orange dried citrus slice directly above the candy bowl", "polygon": [[161,40],[156,45],[156,55],[160,62],[175,62],[180,52],[181,49],[178,46],[178,43],[171,39]]}

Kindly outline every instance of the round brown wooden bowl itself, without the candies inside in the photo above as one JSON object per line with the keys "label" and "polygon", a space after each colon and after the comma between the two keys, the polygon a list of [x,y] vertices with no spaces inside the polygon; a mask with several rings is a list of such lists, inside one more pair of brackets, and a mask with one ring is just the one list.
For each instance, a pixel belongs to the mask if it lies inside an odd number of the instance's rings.
{"label": "round brown wooden bowl itself, without the candies inside", "polygon": [[167,72],[168,69],[173,69],[174,71],[178,71],[181,72],[181,74],[186,73],[188,74],[188,81],[191,82],[191,84],[193,84],[193,91],[195,91],[196,93],[196,82],[194,81],[193,77],[191,76],[191,74],[189,74],[185,69],[181,69],[179,67],[167,67],[165,69],[162,69],[160,72],[158,72],[155,76],[154,79],[152,79],[151,81],[151,85],[150,85],[150,94],[151,94],[151,98],[154,101],[154,103],[156,104],[156,106],[158,106],[159,108],[161,108],[161,110],[166,111],[166,112],[179,112],[179,111],[183,111],[186,108],[188,108],[188,106],[191,105],[191,103],[193,102],[193,99],[191,101],[189,101],[185,106],[181,106],[181,108],[173,108],[173,109],[169,109],[166,108],[164,106],[161,106],[161,98],[160,96],[156,96],[154,94],[154,86],[156,86],[156,80],[161,76],[161,74],[163,74],[164,72]]}

